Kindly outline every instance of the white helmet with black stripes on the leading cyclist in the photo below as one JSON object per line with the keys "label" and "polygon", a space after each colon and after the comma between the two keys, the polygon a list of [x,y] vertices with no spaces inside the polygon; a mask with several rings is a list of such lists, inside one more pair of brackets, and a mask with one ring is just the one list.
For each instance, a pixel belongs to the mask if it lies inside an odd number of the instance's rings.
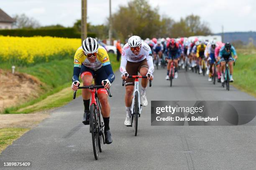
{"label": "white helmet with black stripes on the leading cyclist", "polygon": [[96,53],[98,51],[99,44],[94,38],[87,37],[82,43],[82,48],[84,53]]}

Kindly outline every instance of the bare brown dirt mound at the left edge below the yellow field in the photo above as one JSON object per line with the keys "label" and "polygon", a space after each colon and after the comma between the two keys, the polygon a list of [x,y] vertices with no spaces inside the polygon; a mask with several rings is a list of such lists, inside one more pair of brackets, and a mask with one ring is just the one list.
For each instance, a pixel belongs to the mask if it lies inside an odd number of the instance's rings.
{"label": "bare brown dirt mound at the left edge below the yellow field", "polygon": [[0,69],[0,112],[39,96],[42,83],[35,77]]}

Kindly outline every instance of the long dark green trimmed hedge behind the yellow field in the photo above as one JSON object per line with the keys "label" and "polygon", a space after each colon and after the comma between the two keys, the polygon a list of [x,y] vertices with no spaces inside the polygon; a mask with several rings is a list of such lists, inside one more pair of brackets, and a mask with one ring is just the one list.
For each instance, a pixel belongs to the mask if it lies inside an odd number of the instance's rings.
{"label": "long dark green trimmed hedge behind the yellow field", "polygon": [[[13,29],[0,30],[3,36],[33,37],[33,36],[51,36],[65,38],[81,38],[81,34],[74,28],[39,28],[39,29]],[[95,33],[87,33],[87,36],[96,37]]]}

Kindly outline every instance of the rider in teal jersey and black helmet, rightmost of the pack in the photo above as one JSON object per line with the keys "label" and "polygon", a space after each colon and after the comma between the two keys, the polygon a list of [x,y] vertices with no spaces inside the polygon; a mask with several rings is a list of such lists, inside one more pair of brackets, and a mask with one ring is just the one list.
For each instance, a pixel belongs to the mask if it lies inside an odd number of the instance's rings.
{"label": "rider in teal jersey and black helmet, rightmost of the pack", "polygon": [[[232,53],[234,58],[232,57]],[[228,66],[230,69],[230,82],[233,82],[233,62],[236,62],[238,56],[236,54],[236,49],[234,46],[232,46],[230,43],[225,43],[225,46],[220,48],[220,53],[218,56],[220,60],[220,67],[221,67],[221,79],[220,81],[224,82],[224,68],[225,68],[225,62],[228,61]]]}

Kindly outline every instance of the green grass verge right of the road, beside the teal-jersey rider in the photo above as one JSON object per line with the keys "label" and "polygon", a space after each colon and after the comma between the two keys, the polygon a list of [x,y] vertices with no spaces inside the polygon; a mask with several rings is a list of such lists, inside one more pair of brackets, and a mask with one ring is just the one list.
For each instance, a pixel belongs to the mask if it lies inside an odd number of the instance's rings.
{"label": "green grass verge right of the road, beside the teal-jersey rider", "polygon": [[256,97],[256,54],[238,54],[233,85]]}

